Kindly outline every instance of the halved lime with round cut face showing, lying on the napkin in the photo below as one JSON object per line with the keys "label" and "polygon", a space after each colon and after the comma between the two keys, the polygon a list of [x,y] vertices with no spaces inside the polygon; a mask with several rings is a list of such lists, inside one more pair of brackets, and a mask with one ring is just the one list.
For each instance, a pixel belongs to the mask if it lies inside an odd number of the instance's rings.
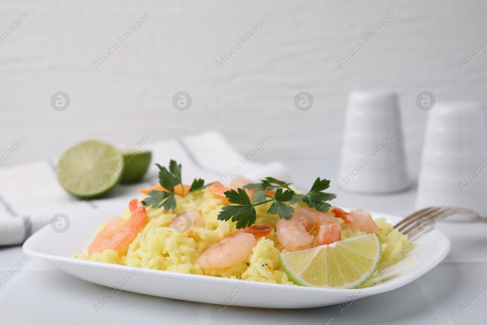
{"label": "halved lime with round cut face showing, lying on the napkin", "polygon": [[122,154],[100,141],[85,141],[68,149],[57,163],[57,179],[69,193],[94,198],[111,191],[122,176]]}

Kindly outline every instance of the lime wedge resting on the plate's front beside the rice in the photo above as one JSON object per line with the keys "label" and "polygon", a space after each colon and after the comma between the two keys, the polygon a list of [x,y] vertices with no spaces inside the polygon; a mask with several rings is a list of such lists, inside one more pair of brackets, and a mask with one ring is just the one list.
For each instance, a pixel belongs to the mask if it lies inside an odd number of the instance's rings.
{"label": "lime wedge resting on the plate's front beside the rice", "polygon": [[333,289],[360,287],[381,258],[382,246],[375,233],[279,254],[282,268],[295,284]]}

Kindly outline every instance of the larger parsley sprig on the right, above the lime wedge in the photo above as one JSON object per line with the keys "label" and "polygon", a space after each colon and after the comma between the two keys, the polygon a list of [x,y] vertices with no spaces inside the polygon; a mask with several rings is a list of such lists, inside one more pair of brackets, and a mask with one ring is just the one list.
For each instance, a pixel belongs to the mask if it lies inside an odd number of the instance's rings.
{"label": "larger parsley sprig on the right, above the lime wedge", "polygon": [[[223,207],[218,214],[218,220],[236,221],[238,229],[251,226],[257,218],[255,207],[267,202],[273,202],[267,210],[268,213],[279,214],[281,219],[289,220],[294,212],[294,208],[290,204],[302,201],[310,208],[328,212],[331,205],[327,201],[337,197],[335,194],[323,192],[330,187],[330,181],[327,179],[318,177],[307,194],[297,194],[289,188],[291,184],[273,177],[266,177],[262,183],[245,185],[244,188],[255,190],[252,200],[249,199],[244,189],[226,191],[224,194],[233,205]],[[270,190],[275,190],[274,196],[269,195]]]}

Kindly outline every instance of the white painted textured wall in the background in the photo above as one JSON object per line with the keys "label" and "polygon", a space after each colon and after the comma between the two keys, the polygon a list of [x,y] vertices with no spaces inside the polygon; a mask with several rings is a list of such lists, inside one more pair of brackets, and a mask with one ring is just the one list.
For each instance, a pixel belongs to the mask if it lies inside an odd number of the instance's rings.
{"label": "white painted textured wall in the background", "polygon": [[[8,165],[56,156],[92,132],[130,146],[146,133],[163,139],[207,126],[241,152],[272,134],[260,159],[338,156],[347,93],[364,88],[400,94],[402,120],[412,116],[406,148],[418,153],[428,114],[415,106],[418,93],[487,102],[487,51],[463,71],[458,63],[487,45],[485,1],[83,1],[1,1],[0,32],[29,15],[0,44],[0,154],[29,136]],[[145,12],[143,29],[96,70],[93,60]],[[218,70],[215,60],[267,12],[265,28]],[[386,30],[339,70],[340,56],[388,12]],[[171,106],[182,90],[193,97],[187,112]],[[293,105],[302,90],[315,97],[309,112]],[[56,91],[71,96],[65,112],[50,106]]]}

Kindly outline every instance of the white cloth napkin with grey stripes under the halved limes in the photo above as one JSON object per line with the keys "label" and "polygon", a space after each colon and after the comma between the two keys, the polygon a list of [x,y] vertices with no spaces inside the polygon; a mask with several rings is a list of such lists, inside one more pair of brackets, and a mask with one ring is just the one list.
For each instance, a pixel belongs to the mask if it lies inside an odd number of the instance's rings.
{"label": "white cloth napkin with grey stripes under the halved limes", "polygon": [[57,213],[69,216],[118,202],[121,207],[127,205],[131,198],[141,197],[138,189],[159,183],[159,170],[154,163],[167,166],[170,159],[182,164],[185,184],[190,184],[196,177],[205,179],[205,183],[220,180],[224,184],[235,177],[251,181],[266,176],[288,179],[289,173],[281,163],[251,161],[264,150],[264,142],[243,155],[215,132],[166,141],[149,140],[143,149],[152,152],[152,161],[141,183],[119,185],[103,198],[85,201],[70,195],[59,185],[56,160],[0,167],[0,245],[23,243],[31,234],[52,222]]}

